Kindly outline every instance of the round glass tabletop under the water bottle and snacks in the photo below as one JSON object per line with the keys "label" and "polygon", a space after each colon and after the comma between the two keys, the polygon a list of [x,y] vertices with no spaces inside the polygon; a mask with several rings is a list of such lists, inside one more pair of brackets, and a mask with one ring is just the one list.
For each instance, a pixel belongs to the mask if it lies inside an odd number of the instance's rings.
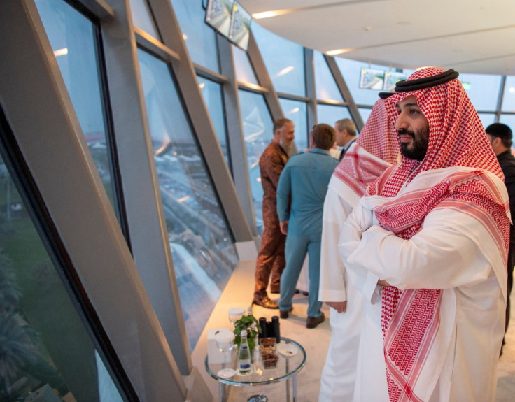
{"label": "round glass tabletop under the water bottle and snacks", "polygon": [[[287,380],[292,375],[297,373],[302,367],[304,367],[304,364],[306,364],[306,351],[304,350],[304,347],[302,347],[299,343],[295,342],[295,340],[291,340],[281,336],[281,342],[277,344],[277,347],[279,347],[283,343],[290,343],[291,345],[297,347],[297,353],[295,354],[295,356],[283,357],[282,354],[276,352],[279,357],[276,368],[266,368],[262,371],[262,373],[256,373],[253,368],[252,373],[248,375],[236,374],[231,378],[221,378],[218,377],[216,373],[218,373],[218,371],[221,368],[223,368],[223,364],[209,364],[208,357],[206,356],[206,371],[209,373],[209,375],[211,375],[211,377],[213,377],[218,382],[222,382],[223,384],[228,385],[260,385]],[[229,364],[230,368],[236,368],[237,366],[236,349],[237,347],[234,347],[234,349],[232,350],[232,363]]]}

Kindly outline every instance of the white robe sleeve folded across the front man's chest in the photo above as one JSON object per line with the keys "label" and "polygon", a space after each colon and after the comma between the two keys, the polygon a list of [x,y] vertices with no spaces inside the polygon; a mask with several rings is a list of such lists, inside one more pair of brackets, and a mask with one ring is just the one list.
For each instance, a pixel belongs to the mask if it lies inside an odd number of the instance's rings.
{"label": "white robe sleeve folded across the front man's chest", "polygon": [[469,235],[485,232],[484,241],[488,241],[488,233],[481,222],[458,210],[432,210],[425,217],[422,229],[409,240],[376,224],[359,238],[359,230],[367,222],[359,213],[356,215],[346,223],[347,236],[339,245],[349,273],[366,272],[399,289],[475,285],[491,275],[491,264]]}

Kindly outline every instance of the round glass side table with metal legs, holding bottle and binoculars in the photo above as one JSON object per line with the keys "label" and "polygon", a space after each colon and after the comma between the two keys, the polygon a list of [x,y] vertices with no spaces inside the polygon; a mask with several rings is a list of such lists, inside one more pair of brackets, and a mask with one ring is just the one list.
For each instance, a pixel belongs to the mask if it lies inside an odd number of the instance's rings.
{"label": "round glass side table with metal legs, holding bottle and binoculars", "polygon": [[[297,348],[297,352],[295,355],[290,357],[284,357],[283,354],[278,354],[278,361],[276,368],[267,368],[262,371],[261,374],[255,373],[254,368],[251,374],[249,375],[234,375],[231,378],[220,378],[216,373],[223,368],[224,364],[209,364],[208,357],[206,356],[205,366],[206,371],[218,381],[218,396],[220,398],[220,402],[227,401],[227,392],[225,387],[227,385],[233,385],[236,387],[248,387],[251,385],[266,385],[271,384],[272,382],[285,381],[286,382],[286,402],[290,402],[290,378],[292,379],[292,395],[293,402],[297,401],[297,373],[304,367],[306,364],[306,351],[304,347],[302,347],[299,343],[295,342],[295,340],[291,340],[288,338],[284,338],[281,336],[281,343],[278,343],[277,347],[281,347],[281,345],[293,345]],[[236,348],[235,348],[236,349]],[[237,353],[232,352],[232,363],[230,366],[234,366],[232,368],[236,368],[237,366]]]}

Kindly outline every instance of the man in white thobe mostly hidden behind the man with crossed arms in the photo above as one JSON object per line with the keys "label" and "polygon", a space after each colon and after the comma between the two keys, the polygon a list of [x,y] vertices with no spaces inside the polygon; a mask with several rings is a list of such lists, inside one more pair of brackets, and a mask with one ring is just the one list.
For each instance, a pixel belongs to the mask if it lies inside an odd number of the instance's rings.
{"label": "man in white thobe mostly hidden behind the man with crossed arms", "polygon": [[362,296],[349,282],[338,254],[341,227],[353,206],[400,153],[397,133],[379,94],[365,127],[335,169],[325,197],[320,258],[319,300],[330,306],[332,329],[320,376],[319,402],[351,401],[361,329]]}

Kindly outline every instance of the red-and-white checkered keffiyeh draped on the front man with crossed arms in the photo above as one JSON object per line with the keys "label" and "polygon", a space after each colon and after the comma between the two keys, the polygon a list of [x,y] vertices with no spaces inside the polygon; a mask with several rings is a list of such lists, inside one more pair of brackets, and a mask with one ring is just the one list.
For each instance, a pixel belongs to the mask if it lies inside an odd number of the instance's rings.
{"label": "red-and-white checkered keffiyeh draped on the front man with crossed arms", "polygon": [[[408,80],[435,76],[444,70],[428,68]],[[394,197],[418,173],[432,169],[465,166],[472,173],[447,177],[416,198],[400,196],[395,203],[375,210],[383,229],[409,239],[422,227],[433,208],[463,208],[493,229],[493,238],[506,256],[509,241],[507,205],[488,179],[493,173],[503,179],[476,110],[457,79],[436,87],[394,94],[385,100],[390,121],[399,115],[396,103],[416,96],[429,122],[428,151],[423,161],[402,158],[367,188],[367,195]],[[477,169],[477,170],[476,170]],[[491,229],[492,230],[492,229]],[[506,266],[506,264],[505,264]],[[441,290],[383,288],[381,324],[390,401],[421,401],[414,389],[439,329]],[[434,350],[432,352],[435,352]],[[446,351],[442,351],[445,353]]]}

